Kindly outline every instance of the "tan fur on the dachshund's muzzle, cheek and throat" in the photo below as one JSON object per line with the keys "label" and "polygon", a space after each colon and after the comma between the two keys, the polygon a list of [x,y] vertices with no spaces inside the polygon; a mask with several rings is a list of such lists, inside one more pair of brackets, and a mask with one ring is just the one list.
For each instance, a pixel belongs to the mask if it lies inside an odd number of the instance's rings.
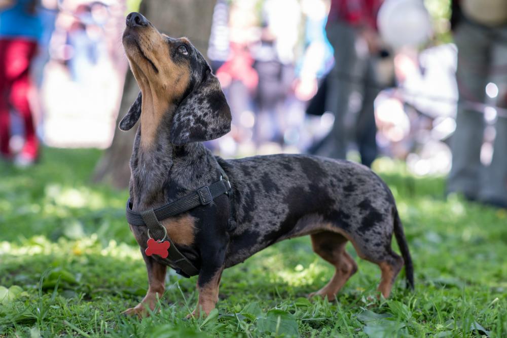
{"label": "tan fur on the dachshund's muzzle, cheek and throat", "polygon": [[188,62],[176,63],[171,58],[170,51],[179,46],[177,41],[169,41],[167,35],[153,26],[130,31],[131,35],[123,39],[123,46],[142,92],[141,146],[149,148],[154,143],[162,117],[172,114],[174,100],[185,93],[190,83],[190,69]]}

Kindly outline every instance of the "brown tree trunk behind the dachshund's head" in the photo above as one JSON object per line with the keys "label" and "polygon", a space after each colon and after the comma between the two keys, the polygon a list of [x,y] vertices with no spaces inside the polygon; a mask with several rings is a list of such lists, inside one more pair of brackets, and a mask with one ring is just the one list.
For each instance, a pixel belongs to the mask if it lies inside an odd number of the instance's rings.
{"label": "brown tree trunk behind the dachshund's head", "polygon": [[[192,44],[206,56],[214,8],[211,0],[144,0],[139,12],[147,17],[159,31],[171,37],[187,36]],[[139,87],[130,71],[127,72],[117,126],[130,104],[139,93]],[[142,113],[141,113],[142,114]],[[118,189],[128,186],[129,159],[137,127],[128,132],[116,130],[111,146],[97,163],[94,182],[105,182]]]}

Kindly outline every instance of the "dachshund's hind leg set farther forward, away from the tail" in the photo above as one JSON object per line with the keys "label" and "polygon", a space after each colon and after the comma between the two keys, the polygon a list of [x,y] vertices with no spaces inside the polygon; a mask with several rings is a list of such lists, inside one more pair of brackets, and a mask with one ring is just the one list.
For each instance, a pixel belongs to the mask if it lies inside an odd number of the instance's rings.
{"label": "dachshund's hind leg set farther forward, away from the tail", "polygon": [[331,301],[347,280],[357,271],[357,265],[345,251],[347,239],[337,233],[322,232],[311,235],[313,251],[330,262],[335,268],[333,278],[320,290],[310,293],[310,297],[319,295]]}

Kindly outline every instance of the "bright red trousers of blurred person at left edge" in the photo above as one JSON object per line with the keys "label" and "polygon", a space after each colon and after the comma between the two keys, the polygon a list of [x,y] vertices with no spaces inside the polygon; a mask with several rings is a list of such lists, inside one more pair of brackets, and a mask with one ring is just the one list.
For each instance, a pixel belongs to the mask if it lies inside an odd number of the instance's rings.
{"label": "bright red trousers of blurred person at left edge", "polygon": [[22,117],[26,142],[24,156],[37,157],[39,141],[35,135],[28,91],[29,68],[37,52],[37,43],[23,39],[0,39],[0,155],[10,156],[9,110],[14,108]]}

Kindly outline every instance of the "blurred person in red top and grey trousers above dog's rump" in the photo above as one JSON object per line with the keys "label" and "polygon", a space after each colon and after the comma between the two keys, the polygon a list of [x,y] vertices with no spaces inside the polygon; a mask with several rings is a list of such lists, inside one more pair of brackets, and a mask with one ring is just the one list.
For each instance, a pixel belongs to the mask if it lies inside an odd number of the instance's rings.
{"label": "blurred person in red top and grey trousers above dog's rump", "polygon": [[373,102],[379,92],[375,72],[379,54],[376,22],[382,0],[331,0],[327,36],[335,66],[328,76],[325,106],[335,115],[329,135],[314,149],[317,155],[345,159],[353,131],[361,163],[377,157]]}

